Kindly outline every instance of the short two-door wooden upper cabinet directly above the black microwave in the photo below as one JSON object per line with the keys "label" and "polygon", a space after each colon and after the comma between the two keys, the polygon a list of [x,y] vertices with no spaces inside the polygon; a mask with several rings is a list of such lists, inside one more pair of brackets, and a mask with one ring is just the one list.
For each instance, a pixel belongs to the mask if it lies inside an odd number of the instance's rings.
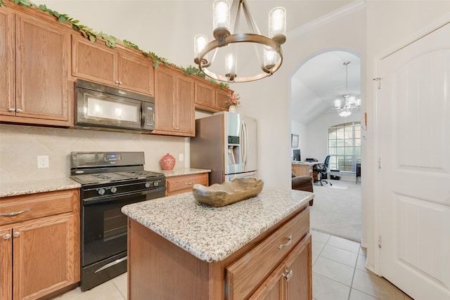
{"label": "short two-door wooden upper cabinet directly above the black microwave", "polygon": [[72,75],[154,96],[153,60],[125,48],[72,36]]}

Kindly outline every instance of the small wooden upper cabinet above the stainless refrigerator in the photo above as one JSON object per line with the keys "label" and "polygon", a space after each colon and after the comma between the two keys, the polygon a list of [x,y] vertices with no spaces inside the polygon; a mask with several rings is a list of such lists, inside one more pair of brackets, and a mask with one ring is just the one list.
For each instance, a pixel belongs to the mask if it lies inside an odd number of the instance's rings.
{"label": "small wooden upper cabinet above the stainless refrigerator", "polygon": [[195,79],[195,108],[207,112],[228,110],[226,98],[229,89],[220,89],[217,84],[211,84],[205,79]]}

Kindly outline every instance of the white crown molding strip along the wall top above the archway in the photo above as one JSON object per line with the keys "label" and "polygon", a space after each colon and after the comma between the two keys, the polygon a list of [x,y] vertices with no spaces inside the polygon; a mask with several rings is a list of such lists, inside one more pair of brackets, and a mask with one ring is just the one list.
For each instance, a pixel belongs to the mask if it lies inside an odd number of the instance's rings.
{"label": "white crown molding strip along the wall top above the archway", "polygon": [[366,7],[366,0],[356,0],[351,4],[347,4],[346,6],[342,6],[342,8],[337,9],[336,11],[332,11],[326,15],[323,15],[321,18],[317,18],[314,21],[311,21],[305,25],[295,28],[295,30],[290,30],[290,32],[286,33],[286,36],[289,39],[295,39],[300,37],[302,34],[315,30],[318,27],[326,25],[330,22],[338,20],[342,17],[345,17],[349,13],[353,13],[354,11],[359,11],[362,8]]}

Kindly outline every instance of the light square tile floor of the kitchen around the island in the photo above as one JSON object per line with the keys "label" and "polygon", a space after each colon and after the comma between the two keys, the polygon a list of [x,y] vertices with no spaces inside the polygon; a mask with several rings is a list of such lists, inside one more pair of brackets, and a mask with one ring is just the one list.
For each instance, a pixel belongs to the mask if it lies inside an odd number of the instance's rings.
{"label": "light square tile floor of the kitchen around the island", "polygon": [[[359,243],[314,230],[311,235],[314,300],[411,300],[390,282],[366,270],[366,252]],[[124,299],[126,273],[87,292],[77,288],[54,300]]]}

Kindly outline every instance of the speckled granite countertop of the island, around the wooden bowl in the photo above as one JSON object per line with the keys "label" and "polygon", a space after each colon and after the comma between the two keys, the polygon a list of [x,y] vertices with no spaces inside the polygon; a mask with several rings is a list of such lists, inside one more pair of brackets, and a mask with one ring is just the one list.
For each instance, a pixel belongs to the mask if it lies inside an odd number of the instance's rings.
{"label": "speckled granite countertop of the island, around the wooden bowl", "polygon": [[257,197],[225,207],[192,193],[122,207],[122,212],[202,261],[222,261],[314,198],[301,190],[264,187]]}

